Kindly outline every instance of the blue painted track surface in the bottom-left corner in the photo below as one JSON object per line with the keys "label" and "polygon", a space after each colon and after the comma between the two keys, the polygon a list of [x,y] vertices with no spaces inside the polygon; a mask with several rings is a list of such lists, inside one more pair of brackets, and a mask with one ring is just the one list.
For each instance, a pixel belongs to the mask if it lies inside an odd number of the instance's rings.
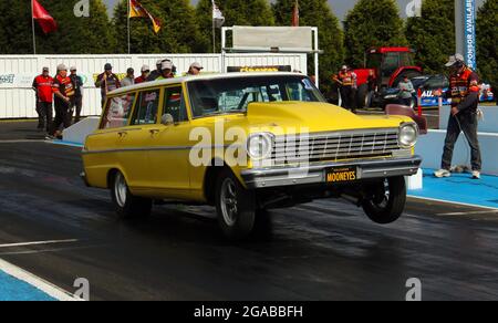
{"label": "blue painted track surface in the bottom-left corner", "polygon": [[46,293],[0,271],[0,301],[55,301]]}

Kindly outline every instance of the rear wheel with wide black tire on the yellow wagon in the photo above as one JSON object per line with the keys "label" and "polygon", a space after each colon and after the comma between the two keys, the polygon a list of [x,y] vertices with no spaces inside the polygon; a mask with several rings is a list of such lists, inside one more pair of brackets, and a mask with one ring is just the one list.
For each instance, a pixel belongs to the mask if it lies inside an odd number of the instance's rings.
{"label": "rear wheel with wide black tire on the yellow wagon", "polygon": [[111,198],[117,216],[122,219],[146,218],[151,215],[153,200],[132,195],[121,171],[112,176]]}

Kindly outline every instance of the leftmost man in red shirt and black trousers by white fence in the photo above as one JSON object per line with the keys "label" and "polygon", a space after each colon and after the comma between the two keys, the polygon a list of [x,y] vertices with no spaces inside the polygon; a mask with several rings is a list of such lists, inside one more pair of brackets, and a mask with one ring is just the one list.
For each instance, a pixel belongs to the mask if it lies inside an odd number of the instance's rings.
{"label": "leftmost man in red shirt and black trousers by white fence", "polygon": [[46,129],[52,126],[53,79],[49,75],[49,67],[43,67],[41,75],[34,77],[33,90],[37,92],[38,129]]}

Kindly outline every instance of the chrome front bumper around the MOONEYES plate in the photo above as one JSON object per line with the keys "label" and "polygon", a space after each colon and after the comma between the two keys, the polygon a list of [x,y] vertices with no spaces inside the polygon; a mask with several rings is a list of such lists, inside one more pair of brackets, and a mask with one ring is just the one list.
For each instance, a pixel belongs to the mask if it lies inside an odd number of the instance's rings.
{"label": "chrome front bumper around the MOONEYES plate", "polygon": [[356,167],[357,180],[412,176],[417,174],[422,158],[366,159],[344,163],[311,164],[307,167],[248,169],[241,173],[247,188],[268,188],[309,184],[326,184],[326,169]]}

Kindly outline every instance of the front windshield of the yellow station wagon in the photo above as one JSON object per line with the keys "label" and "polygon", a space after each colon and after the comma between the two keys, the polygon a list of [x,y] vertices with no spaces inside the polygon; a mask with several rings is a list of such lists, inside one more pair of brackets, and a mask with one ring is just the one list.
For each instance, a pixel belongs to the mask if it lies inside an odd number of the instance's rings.
{"label": "front windshield of the yellow station wagon", "polygon": [[252,102],[325,102],[311,80],[300,75],[191,81],[188,92],[194,117],[246,112]]}

